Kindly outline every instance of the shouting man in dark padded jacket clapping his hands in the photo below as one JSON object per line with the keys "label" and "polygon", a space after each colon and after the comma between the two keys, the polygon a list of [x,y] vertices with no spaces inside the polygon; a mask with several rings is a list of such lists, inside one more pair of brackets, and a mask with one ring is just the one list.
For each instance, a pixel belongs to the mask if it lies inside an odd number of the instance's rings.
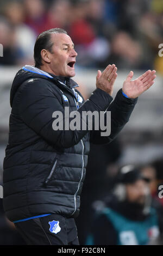
{"label": "shouting man in dark padded jacket clapping his hands", "polygon": [[[71,77],[77,52],[67,33],[54,28],[35,42],[34,66],[15,76],[10,93],[9,143],[4,159],[4,210],[28,245],[78,245],[74,218],[79,214],[89,143],[109,143],[129,120],[137,97],[152,86],[155,71],[131,81],[112,101],[117,68],[108,65],[96,77],[96,90],[84,102]],[[111,103],[111,104],[110,104]],[[111,111],[111,133],[101,130],[55,129],[55,111]],[[105,112],[105,114],[104,114]],[[89,126],[89,120],[86,122]]]}

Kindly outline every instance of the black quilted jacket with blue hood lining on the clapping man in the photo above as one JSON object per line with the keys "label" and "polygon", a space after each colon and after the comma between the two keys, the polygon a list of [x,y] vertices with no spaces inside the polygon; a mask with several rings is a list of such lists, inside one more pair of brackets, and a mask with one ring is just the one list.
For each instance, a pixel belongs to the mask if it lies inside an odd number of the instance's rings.
{"label": "black quilted jacket with blue hood lining on the clapping man", "polygon": [[[76,87],[71,78],[27,65],[14,78],[3,165],[3,205],[11,221],[52,213],[77,217],[89,143],[111,142],[137,101],[124,97],[120,89],[111,103],[109,94],[95,89],[84,102]],[[53,130],[53,112],[61,111],[64,116],[65,106],[81,115],[82,111],[105,111],[109,106],[110,136],[101,137],[101,131],[88,129]]]}

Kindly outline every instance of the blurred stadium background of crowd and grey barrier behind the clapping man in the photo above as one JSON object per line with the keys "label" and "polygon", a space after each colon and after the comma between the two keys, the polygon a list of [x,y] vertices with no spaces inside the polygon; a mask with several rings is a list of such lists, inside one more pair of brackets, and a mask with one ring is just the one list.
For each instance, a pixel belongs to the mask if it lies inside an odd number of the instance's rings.
{"label": "blurred stadium background of crowd and grey barrier behind the clapping man", "polygon": [[[85,99],[96,88],[97,70],[116,64],[114,95],[130,70],[134,79],[148,69],[156,70],[152,88],[139,101],[115,141],[91,145],[86,180],[76,220],[80,243],[85,243],[92,203],[107,196],[124,164],[139,164],[150,176],[151,196],[158,198],[163,185],[163,44],[162,0],[1,0],[0,1],[0,184],[8,143],[9,94],[12,80],[23,65],[34,65],[36,36],[49,28],[64,28],[78,52],[76,76]],[[1,54],[2,55],[2,54]],[[152,170],[151,170],[151,169]],[[5,217],[0,199],[0,244],[24,244]],[[163,218],[163,215],[162,215]]]}

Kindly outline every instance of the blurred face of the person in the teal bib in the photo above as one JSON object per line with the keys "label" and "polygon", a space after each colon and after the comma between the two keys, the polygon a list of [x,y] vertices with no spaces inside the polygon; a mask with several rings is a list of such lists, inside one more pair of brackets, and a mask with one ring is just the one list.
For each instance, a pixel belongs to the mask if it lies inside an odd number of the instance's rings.
{"label": "blurred face of the person in the teal bib", "polygon": [[148,185],[145,181],[137,180],[134,184],[126,185],[127,199],[131,203],[144,204],[148,190]]}

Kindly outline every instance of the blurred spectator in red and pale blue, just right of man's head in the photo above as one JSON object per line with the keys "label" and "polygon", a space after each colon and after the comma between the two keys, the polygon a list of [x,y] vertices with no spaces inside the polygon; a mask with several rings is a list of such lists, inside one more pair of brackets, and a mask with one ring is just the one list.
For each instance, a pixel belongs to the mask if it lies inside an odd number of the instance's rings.
{"label": "blurred spectator in red and pale blue, just right of man's head", "polygon": [[78,64],[82,66],[99,66],[109,55],[109,42],[98,35],[89,16],[90,1],[73,1],[68,34],[73,39],[78,52]]}

